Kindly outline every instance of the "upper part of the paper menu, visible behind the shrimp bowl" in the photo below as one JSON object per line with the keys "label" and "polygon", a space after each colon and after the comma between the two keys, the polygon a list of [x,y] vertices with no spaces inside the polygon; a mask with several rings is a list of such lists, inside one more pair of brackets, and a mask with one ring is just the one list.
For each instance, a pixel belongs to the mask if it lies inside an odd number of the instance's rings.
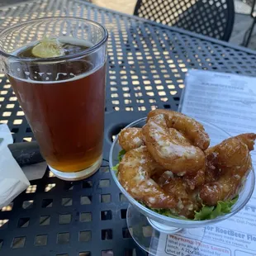
{"label": "upper part of the paper menu, visible behind the shrimp bowl", "polygon": [[[256,133],[256,78],[190,70],[179,111],[230,135]],[[256,150],[251,154],[255,164]]]}

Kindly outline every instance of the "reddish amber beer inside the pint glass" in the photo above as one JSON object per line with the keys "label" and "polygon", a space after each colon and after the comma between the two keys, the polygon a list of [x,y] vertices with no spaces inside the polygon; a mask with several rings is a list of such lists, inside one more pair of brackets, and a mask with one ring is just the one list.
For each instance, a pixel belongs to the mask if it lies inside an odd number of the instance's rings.
{"label": "reddish amber beer inside the pint glass", "polygon": [[[77,65],[68,72],[75,73]],[[105,66],[78,78],[36,83],[9,76],[41,153],[52,168],[78,172],[102,156]]]}

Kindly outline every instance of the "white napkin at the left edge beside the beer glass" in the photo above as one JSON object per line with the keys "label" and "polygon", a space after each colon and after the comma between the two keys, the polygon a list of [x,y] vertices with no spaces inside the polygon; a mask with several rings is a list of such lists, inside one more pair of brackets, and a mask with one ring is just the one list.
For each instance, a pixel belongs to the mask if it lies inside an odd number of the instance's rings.
{"label": "white napkin at the left edge beside the beer glass", "polygon": [[7,145],[12,144],[12,134],[7,125],[0,126],[0,209],[30,185]]}

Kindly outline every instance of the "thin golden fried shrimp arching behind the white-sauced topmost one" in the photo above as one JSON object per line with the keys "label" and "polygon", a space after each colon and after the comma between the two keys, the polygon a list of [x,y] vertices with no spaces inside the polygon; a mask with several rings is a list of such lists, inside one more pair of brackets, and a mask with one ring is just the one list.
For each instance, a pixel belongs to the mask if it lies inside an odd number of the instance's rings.
{"label": "thin golden fried shrimp arching behind the white-sauced topmost one", "polygon": [[148,121],[153,116],[164,115],[169,128],[174,128],[184,135],[192,145],[205,150],[210,145],[210,138],[204,127],[191,117],[185,116],[177,111],[156,109],[150,111]]}

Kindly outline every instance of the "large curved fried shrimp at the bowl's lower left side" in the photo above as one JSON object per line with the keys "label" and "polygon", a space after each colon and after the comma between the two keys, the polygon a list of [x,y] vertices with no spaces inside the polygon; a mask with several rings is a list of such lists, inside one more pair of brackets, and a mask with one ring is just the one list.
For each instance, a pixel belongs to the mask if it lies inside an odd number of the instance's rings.
{"label": "large curved fried shrimp at the bowl's lower left side", "polygon": [[118,167],[118,179],[121,185],[138,201],[152,208],[175,209],[177,200],[150,178],[155,172],[161,172],[147,148],[130,149],[126,152]]}

